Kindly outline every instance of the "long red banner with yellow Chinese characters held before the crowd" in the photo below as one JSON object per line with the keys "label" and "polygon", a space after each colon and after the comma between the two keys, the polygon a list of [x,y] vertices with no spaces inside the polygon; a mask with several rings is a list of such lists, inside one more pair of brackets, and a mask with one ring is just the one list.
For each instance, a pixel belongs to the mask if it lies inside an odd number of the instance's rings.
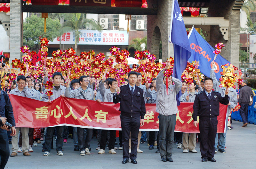
{"label": "long red banner with yellow Chinese characters held before the crowd", "polygon": [[[76,126],[93,129],[121,130],[120,104],[59,97],[42,102],[10,95],[17,127]],[[199,133],[193,125],[193,103],[181,103],[176,117],[175,131]],[[156,104],[146,104],[145,124],[142,131],[159,130]],[[227,106],[220,104],[218,132],[224,132]],[[198,119],[199,120],[199,119]]]}

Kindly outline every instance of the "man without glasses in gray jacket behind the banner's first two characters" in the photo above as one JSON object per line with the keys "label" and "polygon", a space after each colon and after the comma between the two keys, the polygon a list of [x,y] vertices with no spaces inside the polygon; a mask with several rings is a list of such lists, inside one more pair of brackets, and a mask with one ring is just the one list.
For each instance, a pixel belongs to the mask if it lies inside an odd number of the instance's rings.
{"label": "man without glasses in gray jacket behind the banner's first two characters", "polygon": [[[46,95],[46,91],[44,91],[44,94],[42,96],[42,101],[44,102],[51,102],[54,99],[57,99],[58,97],[65,97],[65,90],[66,87],[61,86],[61,79],[62,79],[62,74],[60,72],[55,72],[52,74],[52,79],[53,79],[53,89],[52,93],[53,95],[50,97],[50,100],[48,99],[48,96]],[[57,126],[57,127],[47,127],[46,129],[46,135],[45,135],[45,141],[44,141],[44,156],[49,156],[50,151],[51,151],[51,146],[52,146],[52,138],[53,138],[53,132],[55,128],[57,129],[57,154],[59,156],[62,156],[62,145],[63,145],[63,131],[64,131],[65,126]]]}

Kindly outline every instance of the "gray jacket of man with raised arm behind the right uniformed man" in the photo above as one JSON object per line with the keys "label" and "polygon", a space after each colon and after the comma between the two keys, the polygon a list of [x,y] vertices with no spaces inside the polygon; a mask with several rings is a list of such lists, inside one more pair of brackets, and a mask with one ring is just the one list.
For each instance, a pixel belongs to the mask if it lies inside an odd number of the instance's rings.
{"label": "gray jacket of man with raised arm behind the right uniformed man", "polygon": [[[214,70],[211,70],[210,77],[213,80],[213,89],[215,91],[217,91],[217,92],[220,92],[222,97],[225,97],[225,90],[226,90],[226,88],[225,87],[221,87],[220,88],[220,86],[219,86],[220,83],[218,82],[218,80],[217,80],[217,78],[215,76]],[[230,114],[231,109],[234,109],[236,107],[236,105],[237,105],[237,93],[236,93],[236,90],[233,89],[233,88],[230,88],[228,96],[229,96],[230,105],[228,106],[228,109],[227,109],[227,117]]]}

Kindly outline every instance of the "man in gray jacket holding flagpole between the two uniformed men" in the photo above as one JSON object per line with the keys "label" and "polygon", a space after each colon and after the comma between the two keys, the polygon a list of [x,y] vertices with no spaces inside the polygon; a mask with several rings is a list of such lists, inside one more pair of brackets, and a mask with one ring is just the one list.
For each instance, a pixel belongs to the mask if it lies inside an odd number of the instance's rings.
{"label": "man in gray jacket holding flagpole between the two uniformed men", "polygon": [[[159,149],[162,161],[166,160],[173,162],[173,135],[176,125],[176,114],[178,113],[178,106],[176,95],[181,89],[181,81],[174,77],[165,77],[164,70],[168,69],[170,62],[166,62],[166,66],[159,72],[156,77],[156,112],[159,113]],[[166,93],[166,78],[168,78],[168,95]],[[171,85],[171,80],[174,85]],[[163,84],[164,81],[164,84]]]}

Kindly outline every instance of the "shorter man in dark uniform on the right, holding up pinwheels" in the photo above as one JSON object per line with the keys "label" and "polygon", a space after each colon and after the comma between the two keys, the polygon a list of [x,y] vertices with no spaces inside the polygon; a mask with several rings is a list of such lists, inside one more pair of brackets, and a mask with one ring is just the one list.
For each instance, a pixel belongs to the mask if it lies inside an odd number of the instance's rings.
{"label": "shorter man in dark uniform on the right, holding up pinwheels", "polygon": [[202,162],[206,162],[207,159],[216,162],[213,157],[218,125],[217,116],[220,115],[220,103],[224,105],[228,105],[229,103],[228,88],[226,88],[225,97],[222,97],[220,92],[213,91],[212,88],[212,78],[205,78],[204,91],[196,95],[193,106],[194,126],[197,127],[197,116],[199,116],[200,119],[199,131]]}

